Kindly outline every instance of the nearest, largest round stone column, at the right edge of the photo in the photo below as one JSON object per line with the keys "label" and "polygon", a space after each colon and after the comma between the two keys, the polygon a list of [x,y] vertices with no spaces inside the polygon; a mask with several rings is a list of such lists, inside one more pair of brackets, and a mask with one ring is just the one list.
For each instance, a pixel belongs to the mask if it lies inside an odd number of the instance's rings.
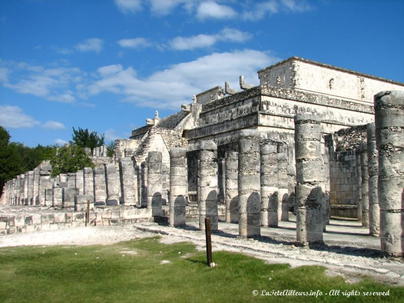
{"label": "nearest, largest round stone column, at the right edge of the photo", "polygon": [[404,91],[382,91],[374,97],[376,145],[379,151],[378,197],[380,242],[387,255],[404,255],[403,205]]}

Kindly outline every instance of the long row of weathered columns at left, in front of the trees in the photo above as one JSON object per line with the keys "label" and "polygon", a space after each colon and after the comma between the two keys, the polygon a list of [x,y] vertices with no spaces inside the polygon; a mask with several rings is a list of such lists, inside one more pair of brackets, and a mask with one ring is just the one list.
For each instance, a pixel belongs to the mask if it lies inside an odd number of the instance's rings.
{"label": "long row of weathered columns at left, in front of the trees", "polygon": [[[61,206],[58,188],[77,188],[80,195],[92,195],[94,203],[136,205],[137,176],[131,158],[121,158],[115,165],[84,168],[75,173],[51,178],[52,167],[40,165],[5,184],[5,200],[10,205]],[[56,196],[54,197],[54,192]],[[56,202],[55,202],[56,201]]]}

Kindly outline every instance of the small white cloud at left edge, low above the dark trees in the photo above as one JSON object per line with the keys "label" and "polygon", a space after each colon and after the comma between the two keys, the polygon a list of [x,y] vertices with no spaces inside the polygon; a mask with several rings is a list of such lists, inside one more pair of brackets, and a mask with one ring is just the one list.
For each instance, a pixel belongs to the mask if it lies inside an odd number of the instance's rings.
{"label": "small white cloud at left edge, low above the dark trees", "polygon": [[0,105],[0,125],[10,128],[31,128],[37,124],[38,121],[25,115],[18,106]]}

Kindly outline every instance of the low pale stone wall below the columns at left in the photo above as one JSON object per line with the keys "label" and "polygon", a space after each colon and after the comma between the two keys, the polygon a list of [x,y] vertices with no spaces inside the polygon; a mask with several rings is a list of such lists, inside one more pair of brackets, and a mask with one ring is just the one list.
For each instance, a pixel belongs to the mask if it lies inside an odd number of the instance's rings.
{"label": "low pale stone wall below the columns at left", "polygon": [[[151,211],[130,207],[105,207],[90,211],[89,225],[128,225],[153,222]],[[85,212],[57,211],[52,208],[21,207],[0,213],[0,235],[37,230],[85,226]]]}

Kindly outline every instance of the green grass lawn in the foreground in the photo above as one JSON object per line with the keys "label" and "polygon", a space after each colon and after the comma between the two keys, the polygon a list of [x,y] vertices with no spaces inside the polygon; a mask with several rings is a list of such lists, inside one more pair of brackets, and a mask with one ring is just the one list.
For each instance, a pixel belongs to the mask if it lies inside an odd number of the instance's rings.
{"label": "green grass lawn in the foreground", "polygon": [[[161,264],[163,260],[170,263]],[[167,245],[158,237],[108,246],[0,248],[0,302],[402,302],[404,298],[403,287],[369,279],[346,284],[341,277],[325,275],[319,266],[291,269],[225,251],[214,252],[213,261],[217,267],[207,267],[206,252],[197,251],[192,243]],[[319,290],[323,295],[261,295],[263,290],[286,289]],[[333,289],[340,294],[325,294]],[[346,297],[345,290],[361,295]],[[387,290],[389,296],[363,295]]]}

